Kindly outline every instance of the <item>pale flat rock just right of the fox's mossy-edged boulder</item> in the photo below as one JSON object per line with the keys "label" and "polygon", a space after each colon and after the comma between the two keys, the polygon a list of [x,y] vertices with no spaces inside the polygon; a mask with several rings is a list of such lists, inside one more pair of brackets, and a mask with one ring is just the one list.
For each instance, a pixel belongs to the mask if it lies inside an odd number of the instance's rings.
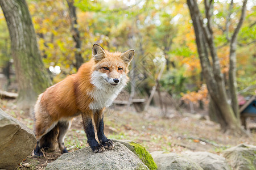
{"label": "pale flat rock just right of the fox's mossy-edged boulder", "polygon": [[184,155],[174,153],[164,153],[155,151],[151,153],[159,170],[203,170],[199,164],[194,163]]}

